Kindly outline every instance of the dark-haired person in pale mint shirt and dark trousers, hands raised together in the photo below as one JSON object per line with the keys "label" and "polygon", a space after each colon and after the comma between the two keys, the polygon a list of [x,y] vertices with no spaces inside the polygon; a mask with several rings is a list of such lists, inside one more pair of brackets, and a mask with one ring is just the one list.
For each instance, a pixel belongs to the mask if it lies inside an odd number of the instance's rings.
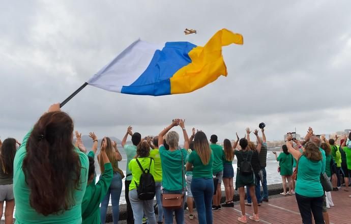
{"label": "dark-haired person in pale mint shirt and dark trousers, hands raised together", "polygon": [[[127,133],[124,135],[124,137],[122,139],[122,143],[121,143],[122,147],[124,148],[124,150],[126,151],[126,154],[127,154],[127,167],[126,167],[126,179],[124,182],[124,185],[125,185],[125,192],[124,193],[125,193],[126,202],[127,202],[127,223],[128,224],[134,224],[133,210],[132,210],[132,207],[131,207],[130,201],[129,201],[129,185],[132,182],[132,172],[130,172],[128,165],[129,165],[129,162],[136,155],[136,146],[141,141],[141,134],[138,132],[133,133],[132,130],[133,130],[132,126],[129,126],[127,128]],[[132,136],[133,145],[127,144],[128,135]]]}

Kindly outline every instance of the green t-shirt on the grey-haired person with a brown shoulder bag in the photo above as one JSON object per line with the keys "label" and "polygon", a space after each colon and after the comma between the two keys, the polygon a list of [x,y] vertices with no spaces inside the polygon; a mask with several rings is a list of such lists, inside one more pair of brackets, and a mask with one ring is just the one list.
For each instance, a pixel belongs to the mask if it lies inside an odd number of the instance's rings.
{"label": "green t-shirt on the grey-haired person with a brown shoulder bag", "polygon": [[[159,148],[161,161],[162,161],[162,186],[165,190],[182,190],[185,187],[185,159],[187,157],[188,151],[186,149],[181,150],[166,150],[166,148],[161,145]],[[182,164],[183,157],[183,164]],[[183,169],[183,176],[182,176]],[[183,181],[182,181],[183,178]],[[182,187],[182,182],[184,183]]]}

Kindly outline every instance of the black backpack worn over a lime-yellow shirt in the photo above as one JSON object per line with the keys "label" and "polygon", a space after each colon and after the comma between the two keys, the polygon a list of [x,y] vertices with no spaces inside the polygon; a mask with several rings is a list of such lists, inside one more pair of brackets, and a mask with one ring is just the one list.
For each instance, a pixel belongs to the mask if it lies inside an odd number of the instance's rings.
{"label": "black backpack worn over a lime-yellow shirt", "polygon": [[151,167],[151,163],[152,163],[152,158],[150,158],[150,165],[149,165],[149,169],[143,169],[142,165],[140,164],[139,160],[136,159],[136,162],[138,163],[142,174],[140,176],[140,180],[139,180],[139,185],[135,182],[136,185],[136,191],[138,193],[138,199],[140,200],[152,200],[155,197],[155,179],[154,177],[150,174],[150,167]]}

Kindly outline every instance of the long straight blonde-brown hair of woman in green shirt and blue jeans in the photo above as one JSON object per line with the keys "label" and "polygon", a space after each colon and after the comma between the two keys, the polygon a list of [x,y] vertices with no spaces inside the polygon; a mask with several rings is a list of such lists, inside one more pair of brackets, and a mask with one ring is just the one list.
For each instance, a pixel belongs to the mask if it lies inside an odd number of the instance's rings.
{"label": "long straight blonde-brown hair of woman in green shirt and blue jeans", "polygon": [[207,165],[210,162],[212,150],[210,149],[209,142],[206,134],[202,131],[198,131],[194,138],[194,148],[197,155],[200,157],[203,165]]}

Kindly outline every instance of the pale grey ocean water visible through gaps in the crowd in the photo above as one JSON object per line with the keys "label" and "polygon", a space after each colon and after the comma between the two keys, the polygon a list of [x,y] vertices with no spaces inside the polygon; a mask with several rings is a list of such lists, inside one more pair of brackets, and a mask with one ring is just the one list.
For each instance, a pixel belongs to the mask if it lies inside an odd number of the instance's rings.
{"label": "pale grey ocean water visible through gaps in the crowd", "polygon": [[[121,152],[121,155],[122,155],[122,161],[119,162],[119,168],[121,170],[123,170],[123,173],[126,175],[126,167],[127,167],[127,156],[125,154],[125,152],[123,151],[123,148],[122,146],[119,147],[119,149],[122,149],[120,150]],[[279,150],[279,149],[269,149],[269,151],[267,152],[267,167],[266,167],[266,172],[267,172],[267,184],[277,184],[277,183],[281,183],[282,180],[281,180],[281,176],[280,174],[278,173],[277,169],[278,169],[278,162],[275,160],[275,156],[274,154],[272,153],[271,150]],[[235,176],[237,174],[237,162],[238,160],[236,159],[236,157],[234,158],[234,161],[233,161],[233,169],[234,169],[234,178],[233,178],[233,185],[234,185],[234,188],[235,188]],[[99,180],[99,176],[100,176],[100,168],[99,168],[99,164],[96,160],[96,164],[95,164],[95,167],[96,167],[96,173],[97,173],[97,178],[96,180],[98,181]],[[123,186],[122,186],[122,193],[121,193],[121,198],[120,198],[120,204],[126,204],[126,200],[125,200],[125,194],[124,194],[124,190],[125,190],[125,187],[124,187],[124,180],[122,180],[123,182]],[[222,190],[224,190],[224,185],[222,184],[221,185],[221,188]],[[111,201],[109,203],[111,205]]]}

